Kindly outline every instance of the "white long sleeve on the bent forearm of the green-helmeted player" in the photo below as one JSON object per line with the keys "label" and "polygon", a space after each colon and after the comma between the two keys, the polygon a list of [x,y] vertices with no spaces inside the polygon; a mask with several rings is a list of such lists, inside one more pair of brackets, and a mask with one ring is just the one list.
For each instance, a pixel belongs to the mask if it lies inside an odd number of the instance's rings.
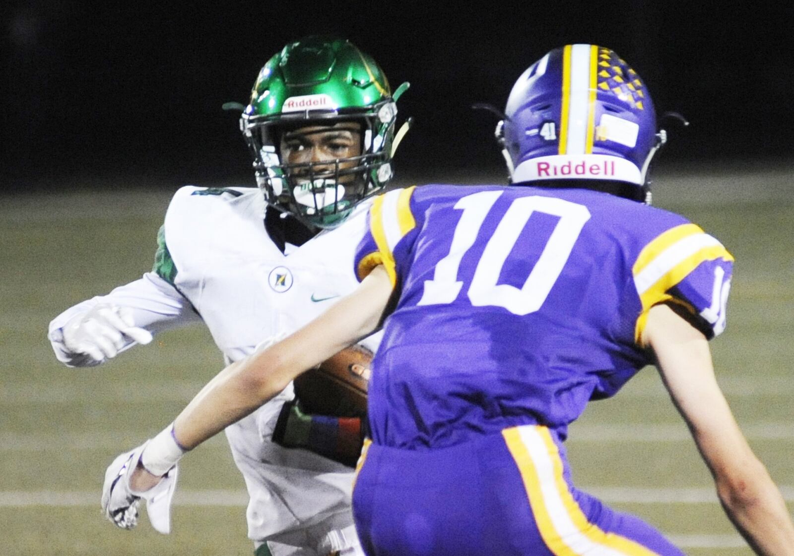
{"label": "white long sleeve on the bent forearm of the green-helmeted player", "polygon": [[[74,353],[64,345],[64,325],[73,316],[89,311],[98,303],[110,303],[118,307],[126,307],[132,312],[135,326],[145,328],[152,334],[170,328],[200,322],[191,304],[175,289],[174,286],[160,278],[154,272],[147,272],[141,279],[119,286],[110,293],[91,297],[60,313],[49,324],[48,339],[52,343],[58,361],[66,366],[94,366],[103,361],[94,361],[89,355]],[[127,338],[125,351],[136,342]]]}

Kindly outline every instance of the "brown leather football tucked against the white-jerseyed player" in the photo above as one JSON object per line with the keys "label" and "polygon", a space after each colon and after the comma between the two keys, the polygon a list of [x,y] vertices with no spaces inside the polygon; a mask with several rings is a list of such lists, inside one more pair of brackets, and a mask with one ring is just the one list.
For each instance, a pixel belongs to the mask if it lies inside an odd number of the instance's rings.
{"label": "brown leather football tucked against the white-jerseyed player", "polygon": [[295,397],[303,411],[315,415],[363,416],[371,363],[372,351],[366,347],[346,347],[295,378]]}

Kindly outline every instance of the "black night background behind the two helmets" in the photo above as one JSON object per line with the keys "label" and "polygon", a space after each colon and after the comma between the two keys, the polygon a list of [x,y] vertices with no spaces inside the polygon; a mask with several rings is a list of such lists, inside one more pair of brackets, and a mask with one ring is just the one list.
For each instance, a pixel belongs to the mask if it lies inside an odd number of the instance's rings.
{"label": "black night background behind the two helmets", "polygon": [[503,107],[530,63],[571,42],[619,52],[657,113],[692,122],[669,125],[657,167],[788,163],[794,4],[723,4],[6,0],[0,188],[253,185],[221,105],[246,102],[287,41],[329,32],[371,53],[392,88],[410,81],[403,178],[501,171],[494,118],[469,105]]}

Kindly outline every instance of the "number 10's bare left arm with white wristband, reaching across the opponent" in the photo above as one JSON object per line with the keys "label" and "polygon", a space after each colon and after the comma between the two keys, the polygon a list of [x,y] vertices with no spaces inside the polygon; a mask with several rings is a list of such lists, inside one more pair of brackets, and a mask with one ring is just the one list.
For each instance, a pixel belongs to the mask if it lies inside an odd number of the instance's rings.
{"label": "number 10's bare left arm with white wristband, reaching across the opponent", "polygon": [[[157,435],[135,466],[129,485],[143,492],[156,485],[183,451],[191,450],[275,397],[293,378],[376,330],[391,297],[383,266],[364,278],[357,290],[279,343],[234,362],[193,398]],[[178,449],[177,449],[178,448]],[[151,462],[151,463],[149,463]]]}

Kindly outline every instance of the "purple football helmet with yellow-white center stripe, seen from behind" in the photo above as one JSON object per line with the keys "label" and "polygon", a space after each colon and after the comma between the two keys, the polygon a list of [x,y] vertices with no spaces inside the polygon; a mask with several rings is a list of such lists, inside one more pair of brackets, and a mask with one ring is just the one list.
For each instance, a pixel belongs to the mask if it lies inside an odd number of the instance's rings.
{"label": "purple football helmet with yellow-white center stripe, seen from behind", "polygon": [[609,48],[555,48],[515,82],[497,127],[512,182],[607,180],[649,202],[646,174],[665,141],[637,72]]}

